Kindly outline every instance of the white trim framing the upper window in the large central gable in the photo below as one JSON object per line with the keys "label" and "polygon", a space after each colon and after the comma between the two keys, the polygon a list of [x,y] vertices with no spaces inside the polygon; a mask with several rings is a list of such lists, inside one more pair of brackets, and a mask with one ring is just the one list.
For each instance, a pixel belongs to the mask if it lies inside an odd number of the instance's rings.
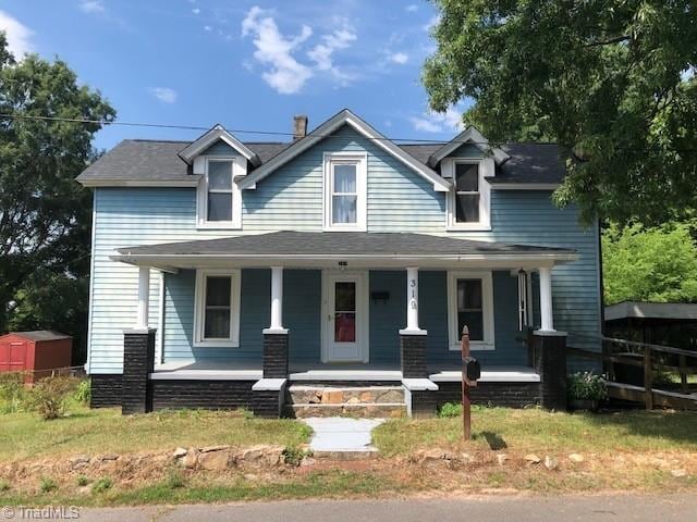
{"label": "white trim framing the upper window in the large central gable", "polygon": [[[356,223],[332,223],[332,163],[355,161],[356,165]],[[323,154],[322,191],[323,198],[323,229],[327,232],[366,232],[367,231],[367,185],[368,185],[368,154],[366,152],[325,152]]]}

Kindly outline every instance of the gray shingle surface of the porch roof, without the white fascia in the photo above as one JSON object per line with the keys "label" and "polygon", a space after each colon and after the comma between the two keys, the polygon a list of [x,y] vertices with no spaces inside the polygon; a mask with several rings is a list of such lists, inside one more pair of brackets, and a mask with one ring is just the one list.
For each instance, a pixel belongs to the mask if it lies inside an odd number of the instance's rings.
{"label": "gray shingle surface of the porch roof, without the white fascia", "polygon": [[573,254],[563,248],[473,241],[452,237],[406,233],[272,232],[260,235],[203,239],[120,248],[123,256],[230,256],[267,257],[303,253],[314,257],[360,256],[472,256],[472,254]]}

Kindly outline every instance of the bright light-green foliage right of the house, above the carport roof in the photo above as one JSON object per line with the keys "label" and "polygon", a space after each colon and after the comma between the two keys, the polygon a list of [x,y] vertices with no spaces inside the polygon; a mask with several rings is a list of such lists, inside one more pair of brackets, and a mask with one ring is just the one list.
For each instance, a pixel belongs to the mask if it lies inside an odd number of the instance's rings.
{"label": "bright light-green foliage right of the house, above the carport roof", "polygon": [[602,236],[607,304],[697,302],[697,243],[687,224],[609,227]]}

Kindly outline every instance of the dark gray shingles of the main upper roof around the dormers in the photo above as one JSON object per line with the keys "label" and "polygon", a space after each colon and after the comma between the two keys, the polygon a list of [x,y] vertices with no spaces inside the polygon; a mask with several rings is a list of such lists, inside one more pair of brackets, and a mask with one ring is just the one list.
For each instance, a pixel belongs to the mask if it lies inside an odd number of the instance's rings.
{"label": "dark gray shingles of the main upper roof around the dormers", "polygon": [[[191,141],[126,139],[77,176],[78,182],[191,181],[191,167],[178,156]],[[261,163],[283,151],[290,142],[245,142]],[[444,144],[412,144],[400,147],[424,164]],[[551,144],[514,144],[502,149],[511,158],[499,166],[499,183],[561,183],[565,175],[559,147]]]}

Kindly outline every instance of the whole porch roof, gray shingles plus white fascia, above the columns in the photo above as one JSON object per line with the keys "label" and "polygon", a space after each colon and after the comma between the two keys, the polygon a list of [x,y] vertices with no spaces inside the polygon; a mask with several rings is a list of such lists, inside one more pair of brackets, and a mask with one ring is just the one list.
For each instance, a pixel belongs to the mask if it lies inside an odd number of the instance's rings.
{"label": "whole porch roof, gray shingles plus white fascia, above the columns", "polygon": [[402,265],[413,261],[488,261],[512,266],[541,262],[551,265],[573,261],[576,251],[530,245],[476,241],[409,233],[272,232],[222,239],[203,239],[125,247],[112,259],[137,265],[198,266],[218,261],[262,265],[321,265],[351,260],[352,265],[382,262]]}

